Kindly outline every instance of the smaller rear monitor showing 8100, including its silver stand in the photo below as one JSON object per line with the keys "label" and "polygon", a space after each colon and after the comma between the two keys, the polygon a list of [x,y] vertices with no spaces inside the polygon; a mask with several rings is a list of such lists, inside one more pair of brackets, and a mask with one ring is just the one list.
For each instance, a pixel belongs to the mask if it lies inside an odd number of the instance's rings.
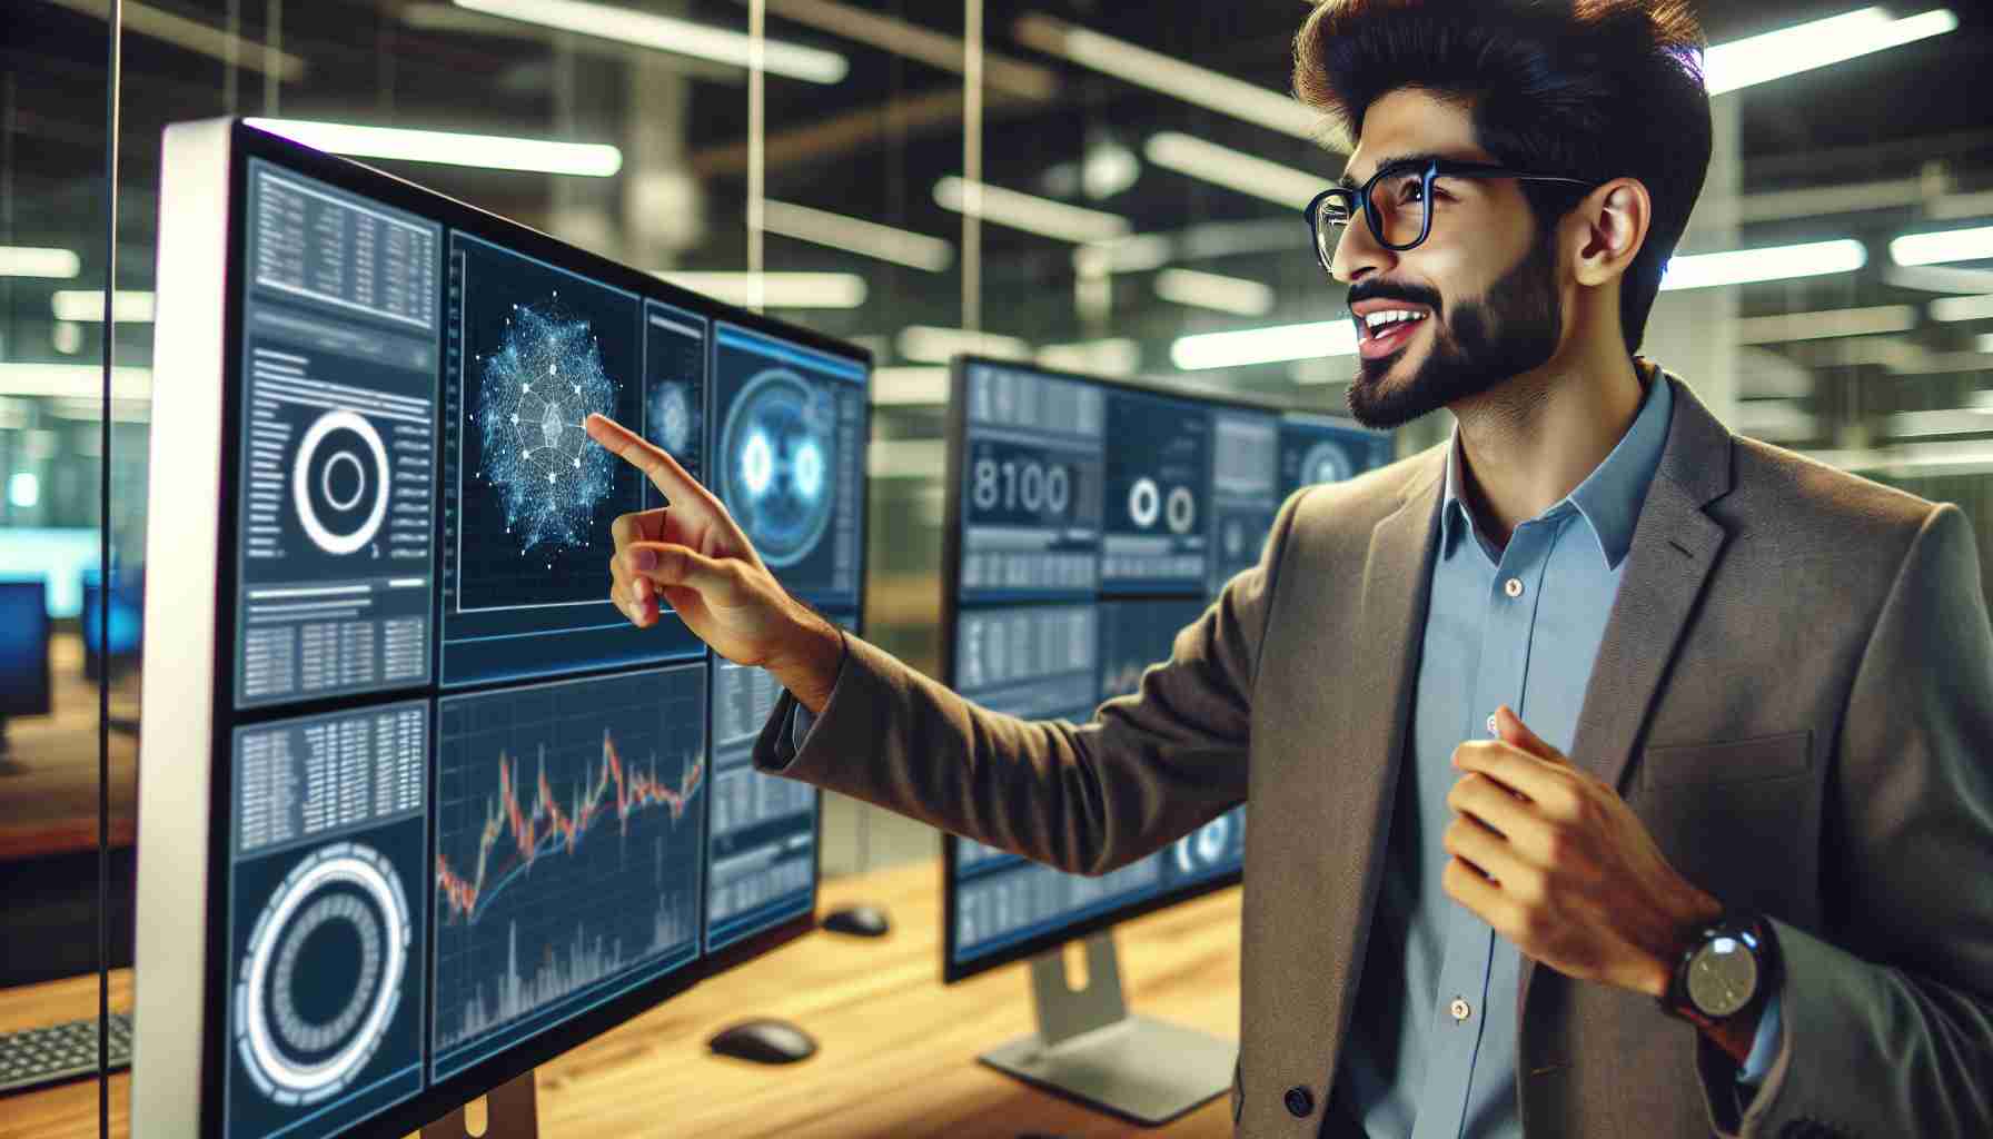
{"label": "smaller rear monitor showing 8100, including its silver stand", "polygon": [[[1327,417],[959,357],[949,405],[943,680],[1026,718],[1088,720],[1260,559],[1285,495],[1391,437]],[[1287,451],[1299,447],[1293,477]],[[1353,471],[1351,471],[1353,473]],[[947,836],[943,975],[1032,961],[1036,1035],[983,1059],[1140,1123],[1230,1085],[1234,1045],[1126,1015],[1112,926],[1240,882],[1246,810],[1088,878]],[[1090,985],[1052,953],[1086,938]]]}

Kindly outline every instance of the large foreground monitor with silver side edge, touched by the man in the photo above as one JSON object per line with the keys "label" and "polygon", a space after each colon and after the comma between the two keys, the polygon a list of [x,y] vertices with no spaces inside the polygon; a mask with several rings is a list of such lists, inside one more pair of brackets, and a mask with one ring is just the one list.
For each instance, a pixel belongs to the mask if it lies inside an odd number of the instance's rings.
{"label": "large foreground monitor with silver side edge, touched by the man", "polygon": [[582,423],[855,624],[871,357],[237,120],[157,273],[136,1133],[399,1137],[811,930],[773,682],[608,600]]}

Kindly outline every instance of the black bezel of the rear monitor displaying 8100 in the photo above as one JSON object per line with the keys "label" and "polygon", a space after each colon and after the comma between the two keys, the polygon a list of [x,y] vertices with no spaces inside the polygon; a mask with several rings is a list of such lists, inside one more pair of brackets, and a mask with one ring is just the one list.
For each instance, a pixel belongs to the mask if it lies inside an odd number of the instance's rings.
{"label": "black bezel of the rear monitor displaying 8100", "polygon": [[[1188,399],[1204,403],[1220,411],[1250,411],[1272,415],[1276,421],[1281,419],[1283,409],[1272,401],[1258,401],[1248,397],[1224,397],[1206,391],[1196,391],[1190,387],[1164,387],[1156,383],[1138,383],[1122,377],[1108,375],[1088,375],[1080,371],[1064,371],[1056,367],[1044,367],[1036,363],[1024,363],[1014,359],[998,359],[985,355],[957,355],[949,361],[949,413],[947,413],[947,505],[943,509],[943,539],[941,539],[941,682],[951,690],[955,688],[955,650],[957,650],[957,620],[961,616],[961,555],[963,555],[963,457],[969,445],[969,369],[975,365],[991,367],[1012,367],[1022,371],[1032,371],[1052,379],[1066,379],[1076,383],[1090,383],[1096,387],[1118,389],[1138,395],[1160,395],[1166,399]],[[1158,594],[1156,600],[1180,596],[1180,594]],[[1140,596],[1130,596],[1130,600],[1144,600]],[[1216,596],[1204,596],[1206,606],[1216,602]],[[1094,702],[1098,708],[1098,700]],[[1244,800],[1234,806],[1244,806]],[[1226,808],[1228,812],[1234,808]],[[1202,882],[1192,882],[1188,886],[1178,886],[1164,894],[1144,898],[1140,902],[1130,902],[1126,906],[1116,906],[1092,918],[1084,918],[1070,926],[1038,934],[1014,946],[1004,946],[985,957],[973,961],[959,961],[955,957],[955,912],[957,912],[957,888],[955,888],[955,868],[961,858],[963,838],[943,832],[943,858],[941,858],[941,981],[947,985],[979,977],[991,969],[1000,969],[1004,965],[1014,965],[1030,957],[1038,957],[1068,942],[1078,942],[1082,938],[1092,938],[1104,930],[1112,930],[1124,922],[1144,918],[1158,910],[1168,910],[1170,906],[1180,906],[1206,894],[1216,894],[1220,890],[1230,890],[1244,882],[1244,866],[1240,870],[1230,870]]]}

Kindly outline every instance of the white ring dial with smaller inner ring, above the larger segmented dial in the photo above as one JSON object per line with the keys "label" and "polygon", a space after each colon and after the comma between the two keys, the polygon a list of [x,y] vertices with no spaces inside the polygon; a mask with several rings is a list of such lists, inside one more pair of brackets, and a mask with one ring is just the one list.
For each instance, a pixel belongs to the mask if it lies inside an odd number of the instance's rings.
{"label": "white ring dial with smaller inner ring, above the larger segmented dial", "polygon": [[387,521],[387,445],[357,411],[327,411],[305,429],[291,461],[291,505],[311,545],[343,557]]}

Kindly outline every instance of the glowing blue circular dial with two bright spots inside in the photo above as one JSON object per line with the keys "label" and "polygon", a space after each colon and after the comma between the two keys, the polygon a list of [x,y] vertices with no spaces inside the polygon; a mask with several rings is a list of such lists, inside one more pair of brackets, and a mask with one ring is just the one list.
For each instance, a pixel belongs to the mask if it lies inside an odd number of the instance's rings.
{"label": "glowing blue circular dial with two bright spots inside", "polygon": [[747,381],[719,435],[719,497],[769,567],[803,561],[831,525],[831,399],[791,371]]}

